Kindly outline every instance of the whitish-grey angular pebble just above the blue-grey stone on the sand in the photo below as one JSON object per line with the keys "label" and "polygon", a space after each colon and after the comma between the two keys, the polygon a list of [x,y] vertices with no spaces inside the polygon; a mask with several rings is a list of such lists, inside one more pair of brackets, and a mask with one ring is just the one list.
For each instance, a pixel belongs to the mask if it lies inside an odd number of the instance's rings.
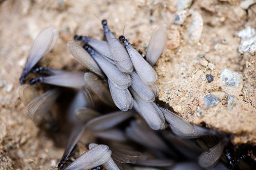
{"label": "whitish-grey angular pebble just above the blue-grey stone on the sand", "polygon": [[220,80],[229,87],[238,87],[242,80],[242,75],[225,68],[221,72]]}

